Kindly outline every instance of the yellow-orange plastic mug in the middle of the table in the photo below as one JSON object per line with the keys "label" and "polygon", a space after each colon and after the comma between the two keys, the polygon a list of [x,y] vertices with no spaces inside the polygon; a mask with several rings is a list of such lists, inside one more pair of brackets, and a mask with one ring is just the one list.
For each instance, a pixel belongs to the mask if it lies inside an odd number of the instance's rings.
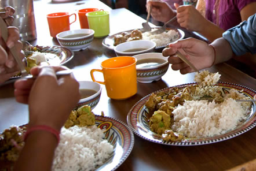
{"label": "yellow-orange plastic mug in the middle of the table", "polygon": [[[101,62],[102,69],[92,69],[94,82],[105,84],[111,99],[127,99],[137,93],[136,62],[134,57],[114,57]],[[104,82],[94,79],[94,72],[102,72]]]}

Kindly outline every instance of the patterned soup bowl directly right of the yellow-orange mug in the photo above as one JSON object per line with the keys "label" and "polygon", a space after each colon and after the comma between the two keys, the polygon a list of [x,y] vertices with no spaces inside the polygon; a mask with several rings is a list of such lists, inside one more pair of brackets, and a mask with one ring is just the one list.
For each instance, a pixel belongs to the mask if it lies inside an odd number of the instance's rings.
{"label": "patterned soup bowl directly right of the yellow-orange mug", "polygon": [[137,81],[140,83],[152,83],[158,81],[169,68],[168,58],[162,53],[144,53],[134,55],[137,58]]}

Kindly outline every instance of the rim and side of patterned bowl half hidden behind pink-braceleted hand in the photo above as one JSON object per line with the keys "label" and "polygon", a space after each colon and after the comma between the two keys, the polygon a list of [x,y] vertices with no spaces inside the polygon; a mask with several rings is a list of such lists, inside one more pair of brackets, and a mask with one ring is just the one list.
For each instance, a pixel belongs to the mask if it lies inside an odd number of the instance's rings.
{"label": "rim and side of patterned bowl half hidden behind pink-braceleted hand", "polygon": [[100,95],[101,95],[101,89],[102,89],[101,85],[93,81],[79,81],[79,90],[81,89],[90,89],[90,90],[95,90],[97,92],[92,96],[80,99],[76,107],[88,105],[91,107],[91,109],[93,109],[98,104],[98,101],[100,101]]}

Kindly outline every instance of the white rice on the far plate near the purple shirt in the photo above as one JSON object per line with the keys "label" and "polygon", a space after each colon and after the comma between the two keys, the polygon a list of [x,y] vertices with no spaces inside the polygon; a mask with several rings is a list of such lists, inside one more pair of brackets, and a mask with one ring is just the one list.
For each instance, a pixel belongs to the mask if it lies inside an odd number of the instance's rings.
{"label": "white rice on the far plate near the purple shirt", "polygon": [[[152,31],[155,31],[155,30],[156,29],[152,29]],[[143,40],[152,40],[153,42],[156,43],[156,46],[164,46],[166,44],[174,42],[175,40],[178,40],[178,38],[179,38],[179,34],[173,29],[170,29],[168,32],[163,32],[162,34],[155,34],[155,35],[152,35],[151,32],[142,33]]]}

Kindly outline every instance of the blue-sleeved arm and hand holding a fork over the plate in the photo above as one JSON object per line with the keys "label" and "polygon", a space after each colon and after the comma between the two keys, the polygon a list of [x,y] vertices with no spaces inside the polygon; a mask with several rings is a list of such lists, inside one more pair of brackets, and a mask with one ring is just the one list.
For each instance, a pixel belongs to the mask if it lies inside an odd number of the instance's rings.
{"label": "blue-sleeved arm and hand holding a fork over the plate", "polygon": [[228,61],[232,56],[243,55],[250,52],[256,54],[256,14],[250,16],[247,21],[228,29],[222,38],[207,44],[198,39],[188,38],[171,43],[169,48],[163,50],[164,57],[169,57],[168,61],[173,70],[180,70],[186,74],[193,72],[193,69],[180,60],[175,53],[179,50],[188,58],[195,67],[200,70],[209,68],[215,64]]}

